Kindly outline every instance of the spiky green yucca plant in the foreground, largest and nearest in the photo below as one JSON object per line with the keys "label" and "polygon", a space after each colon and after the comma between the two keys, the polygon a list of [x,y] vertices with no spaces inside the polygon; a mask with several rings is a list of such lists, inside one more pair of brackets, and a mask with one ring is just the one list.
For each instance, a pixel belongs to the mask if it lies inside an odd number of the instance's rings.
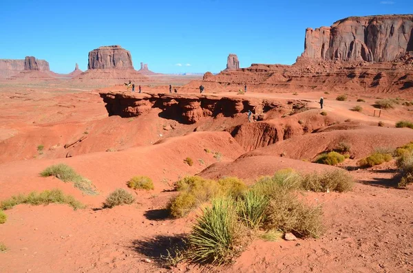
{"label": "spiky green yucca plant in the foreground, largest and nearest", "polygon": [[215,265],[230,263],[240,253],[241,230],[233,199],[214,199],[189,234],[189,260]]}

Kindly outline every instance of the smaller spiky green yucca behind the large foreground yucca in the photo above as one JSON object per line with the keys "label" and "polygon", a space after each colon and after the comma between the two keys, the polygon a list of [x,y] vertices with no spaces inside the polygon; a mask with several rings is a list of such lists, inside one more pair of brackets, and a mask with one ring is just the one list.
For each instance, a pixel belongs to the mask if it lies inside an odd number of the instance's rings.
{"label": "smaller spiky green yucca behind the large foreground yucca", "polygon": [[257,190],[248,190],[238,201],[237,213],[249,228],[260,228],[264,221],[269,199]]}

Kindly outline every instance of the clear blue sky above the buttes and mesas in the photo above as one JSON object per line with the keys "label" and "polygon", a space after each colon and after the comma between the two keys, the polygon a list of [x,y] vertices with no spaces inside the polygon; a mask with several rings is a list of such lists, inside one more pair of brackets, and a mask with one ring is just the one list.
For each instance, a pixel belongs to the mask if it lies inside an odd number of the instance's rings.
{"label": "clear blue sky above the buttes and mesas", "polygon": [[35,56],[68,73],[75,63],[87,69],[89,51],[121,45],[136,69],[142,61],[160,73],[220,72],[229,53],[241,67],[294,63],[306,28],[408,13],[412,0],[0,0],[0,58]]}

